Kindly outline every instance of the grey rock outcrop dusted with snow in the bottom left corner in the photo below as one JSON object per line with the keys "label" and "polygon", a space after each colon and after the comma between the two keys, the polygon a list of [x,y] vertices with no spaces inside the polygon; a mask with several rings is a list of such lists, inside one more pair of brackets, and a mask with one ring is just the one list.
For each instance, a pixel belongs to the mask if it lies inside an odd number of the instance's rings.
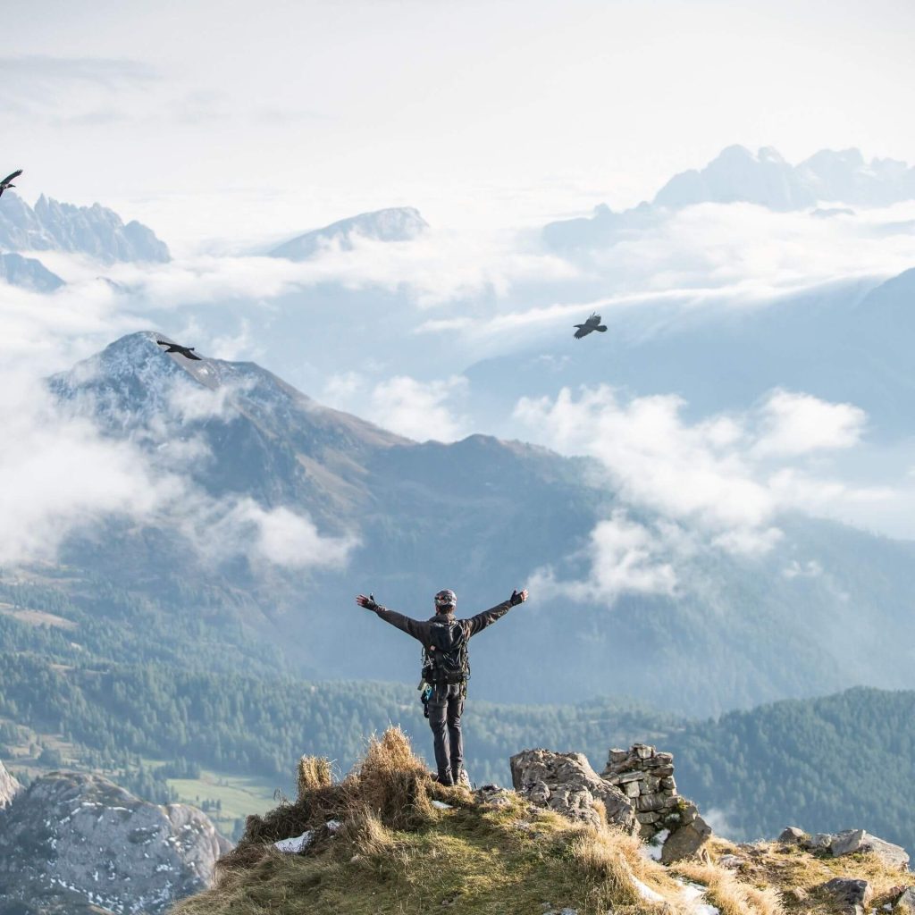
{"label": "grey rock outcrop dusted with snow in the bottom left corner", "polygon": [[52,772],[3,815],[0,903],[43,899],[70,911],[81,899],[159,915],[207,888],[230,847],[192,807],[140,801],[99,776]]}

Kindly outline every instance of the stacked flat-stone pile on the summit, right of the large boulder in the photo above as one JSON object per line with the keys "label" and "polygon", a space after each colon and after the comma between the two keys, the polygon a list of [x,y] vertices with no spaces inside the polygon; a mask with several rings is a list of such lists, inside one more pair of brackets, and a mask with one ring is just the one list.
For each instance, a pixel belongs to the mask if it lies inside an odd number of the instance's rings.
{"label": "stacked flat-stone pile on the summit, right of the large boulder", "polygon": [[682,800],[673,780],[673,754],[659,753],[646,744],[611,749],[600,777],[629,798],[643,838],[670,828],[667,821],[679,810]]}

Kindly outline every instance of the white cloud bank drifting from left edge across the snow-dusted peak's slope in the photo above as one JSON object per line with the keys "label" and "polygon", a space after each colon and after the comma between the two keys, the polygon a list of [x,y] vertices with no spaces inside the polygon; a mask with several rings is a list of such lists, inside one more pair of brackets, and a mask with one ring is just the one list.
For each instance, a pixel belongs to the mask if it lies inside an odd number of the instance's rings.
{"label": "white cloud bank drifting from left edge across the snow-dusted peak's slope", "polygon": [[148,447],[188,421],[229,414],[224,391],[181,386],[152,427],[121,440],[96,425],[90,404],[59,404],[43,382],[7,372],[0,391],[0,565],[53,562],[68,537],[112,518],[170,529],[212,564],[243,555],[290,568],[340,566],[358,542],[322,535],[287,508],[207,495],[188,473],[208,456],[194,436]]}

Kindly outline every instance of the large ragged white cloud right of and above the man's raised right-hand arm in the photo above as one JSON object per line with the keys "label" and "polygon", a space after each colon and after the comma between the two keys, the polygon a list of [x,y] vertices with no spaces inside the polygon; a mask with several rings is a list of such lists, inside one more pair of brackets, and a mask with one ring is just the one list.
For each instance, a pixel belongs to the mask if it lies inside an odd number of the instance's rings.
{"label": "large ragged white cloud right of and above the man's raised right-hand arm", "polygon": [[[684,405],[671,395],[625,400],[606,386],[519,401],[515,418],[533,437],[597,458],[619,501],[655,519],[634,523],[615,511],[592,532],[587,576],[560,584],[544,570],[541,587],[609,602],[623,591],[672,593],[695,550],[770,553],[783,537],[782,511],[841,517],[900,496],[911,502],[910,487],[862,486],[804,463],[858,443],[866,416],[851,404],[775,391],[747,414],[694,423],[684,420]],[[800,574],[813,572],[793,566],[785,572]]]}

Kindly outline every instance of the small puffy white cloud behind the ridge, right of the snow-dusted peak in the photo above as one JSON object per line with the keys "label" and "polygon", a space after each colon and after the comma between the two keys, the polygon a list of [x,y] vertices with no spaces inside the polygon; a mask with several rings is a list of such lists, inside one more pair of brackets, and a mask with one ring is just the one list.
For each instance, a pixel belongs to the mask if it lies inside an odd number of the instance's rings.
{"label": "small puffy white cloud behind the ridge, right of the snow-dusted peak", "polygon": [[460,375],[433,382],[398,375],[375,385],[370,396],[371,418],[416,441],[455,441],[467,434],[468,425],[448,402],[460,400],[467,392],[468,381]]}

